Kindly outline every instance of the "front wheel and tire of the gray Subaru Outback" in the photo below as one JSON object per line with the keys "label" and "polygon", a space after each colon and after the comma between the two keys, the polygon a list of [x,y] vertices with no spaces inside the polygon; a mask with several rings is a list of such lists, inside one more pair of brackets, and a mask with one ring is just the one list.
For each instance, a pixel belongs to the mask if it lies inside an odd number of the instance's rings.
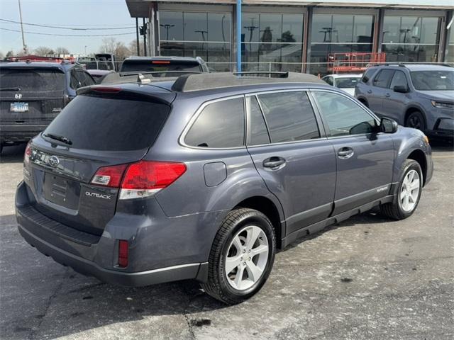
{"label": "front wheel and tire of the gray Subaru Outback", "polygon": [[[417,193],[415,192],[416,188],[413,190],[406,190],[406,186],[409,184],[408,179],[411,177],[411,174],[414,175],[412,177],[413,180],[415,180],[416,174],[418,175],[419,184],[417,186]],[[418,207],[419,198],[421,198],[422,183],[423,174],[421,166],[413,159],[406,159],[404,164],[402,164],[397,198],[392,203],[386,203],[380,207],[382,214],[394,220],[404,220],[406,217],[413,215],[414,210]],[[411,188],[411,186],[408,188]],[[409,196],[406,196],[406,193],[409,193]],[[406,200],[408,200],[410,205],[406,205]]]}

